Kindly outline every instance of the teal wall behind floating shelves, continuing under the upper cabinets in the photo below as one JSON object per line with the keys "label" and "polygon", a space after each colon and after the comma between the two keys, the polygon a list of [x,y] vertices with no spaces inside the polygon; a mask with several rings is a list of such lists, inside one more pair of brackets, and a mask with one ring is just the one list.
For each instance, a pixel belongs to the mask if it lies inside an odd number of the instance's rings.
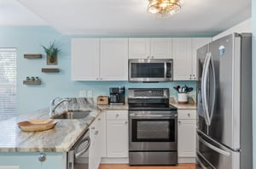
{"label": "teal wall behind floating shelves, continuing under the upper cabinets", "polygon": [[[168,87],[176,96],[173,86],[187,84],[196,87],[195,82],[72,82],[71,79],[71,38],[61,35],[49,26],[1,26],[0,48],[17,48],[17,101],[18,114],[30,113],[49,106],[50,99],[59,97],[79,97],[79,90],[92,90],[93,96],[108,95],[109,87]],[[75,36],[81,37],[81,36]],[[55,41],[61,48],[58,65],[46,65],[41,44]],[[24,59],[23,54],[43,54],[42,59]],[[58,67],[60,73],[43,73],[41,68]],[[38,76],[42,85],[23,85],[26,76]],[[195,90],[191,93],[195,97]]]}

